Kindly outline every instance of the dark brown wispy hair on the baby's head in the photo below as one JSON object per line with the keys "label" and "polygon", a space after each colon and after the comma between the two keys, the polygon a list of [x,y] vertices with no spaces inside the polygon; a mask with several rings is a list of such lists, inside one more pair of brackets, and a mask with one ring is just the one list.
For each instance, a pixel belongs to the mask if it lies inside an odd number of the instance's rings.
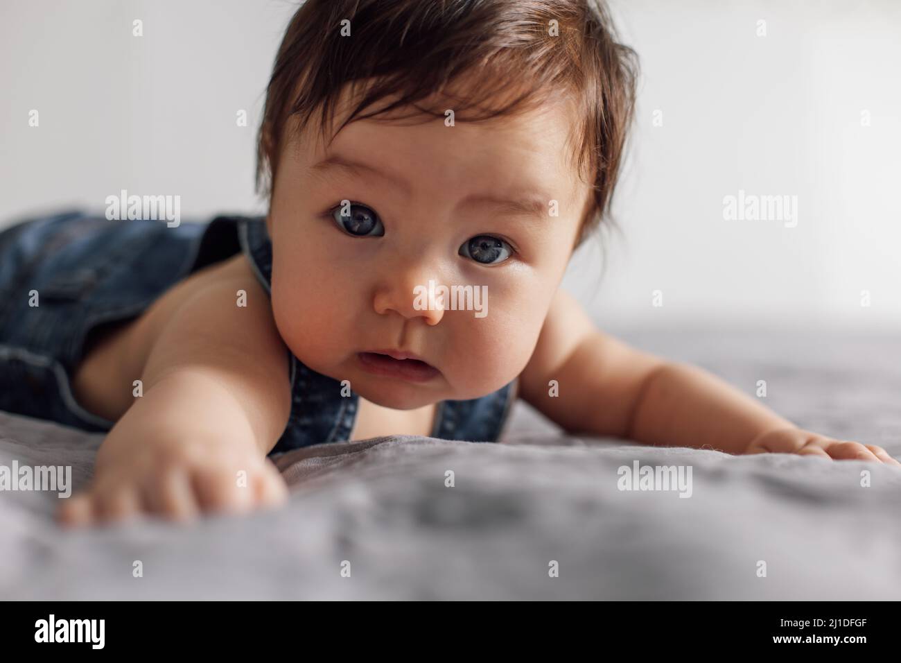
{"label": "dark brown wispy hair on the baby's head", "polygon": [[[348,34],[350,32],[350,34]],[[578,244],[609,213],[632,123],[637,57],[618,43],[603,0],[306,0],[287,26],[269,79],[257,143],[257,192],[271,196],[289,119],[321,113],[323,137],[342,88],[369,80],[338,131],[417,102],[464,78],[450,106],[478,121],[571,96],[576,170],[593,180]],[[474,76],[464,76],[474,74]],[[505,103],[487,106],[488,99]],[[374,112],[370,105],[389,101]],[[334,132],[337,133],[337,132]],[[590,178],[590,180],[589,180]]]}

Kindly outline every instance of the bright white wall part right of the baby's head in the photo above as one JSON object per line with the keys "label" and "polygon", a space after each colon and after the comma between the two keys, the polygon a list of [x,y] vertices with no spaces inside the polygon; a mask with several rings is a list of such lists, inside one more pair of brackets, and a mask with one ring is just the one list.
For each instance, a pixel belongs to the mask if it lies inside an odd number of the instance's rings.
{"label": "bright white wall part right of the baby's head", "polygon": [[[608,246],[599,291],[585,277],[597,251],[579,256],[569,287],[615,326],[901,320],[901,3],[614,7],[643,70],[616,200],[625,237]],[[739,189],[796,195],[797,226],[725,221],[723,198]]]}

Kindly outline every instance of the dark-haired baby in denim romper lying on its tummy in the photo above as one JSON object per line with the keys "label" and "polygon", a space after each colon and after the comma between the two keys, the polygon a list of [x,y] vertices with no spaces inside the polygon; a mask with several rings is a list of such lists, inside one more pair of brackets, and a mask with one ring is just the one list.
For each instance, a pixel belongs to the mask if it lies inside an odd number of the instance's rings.
{"label": "dark-haired baby in denim romper lying on its tummy", "polygon": [[623,345],[560,290],[609,211],[634,79],[589,0],[308,0],[268,84],[265,219],[0,235],[5,286],[43,298],[0,317],[9,384],[41,398],[0,409],[109,429],[60,520],[278,504],[290,449],[495,441],[517,396],[589,435],[901,465]]}

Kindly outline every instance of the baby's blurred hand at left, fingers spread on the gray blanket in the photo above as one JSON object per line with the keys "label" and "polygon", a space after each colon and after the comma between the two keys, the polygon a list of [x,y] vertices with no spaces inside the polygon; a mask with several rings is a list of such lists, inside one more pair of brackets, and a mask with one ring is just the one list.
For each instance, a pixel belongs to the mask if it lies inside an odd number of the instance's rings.
{"label": "baby's blurred hand at left, fingers spread on the gray blanket", "polygon": [[59,508],[65,525],[126,520],[141,513],[192,520],[206,511],[250,511],[285,502],[287,486],[275,465],[254,447],[220,441],[132,444],[97,456],[85,493]]}

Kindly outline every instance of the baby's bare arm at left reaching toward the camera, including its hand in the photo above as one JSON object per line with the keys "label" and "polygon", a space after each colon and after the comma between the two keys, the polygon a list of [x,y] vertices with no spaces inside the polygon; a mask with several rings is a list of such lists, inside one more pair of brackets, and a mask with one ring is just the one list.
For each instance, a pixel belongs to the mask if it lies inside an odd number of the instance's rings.
{"label": "baby's bare arm at left reaching toward the camera, including its hand", "polygon": [[[237,306],[237,290],[247,306]],[[229,277],[166,312],[150,347],[143,395],[100,447],[87,493],[59,511],[68,524],[141,511],[187,519],[198,511],[242,511],[281,502],[287,488],[266,460],[290,411],[287,348],[268,296]],[[131,388],[131,382],[123,385]]]}

